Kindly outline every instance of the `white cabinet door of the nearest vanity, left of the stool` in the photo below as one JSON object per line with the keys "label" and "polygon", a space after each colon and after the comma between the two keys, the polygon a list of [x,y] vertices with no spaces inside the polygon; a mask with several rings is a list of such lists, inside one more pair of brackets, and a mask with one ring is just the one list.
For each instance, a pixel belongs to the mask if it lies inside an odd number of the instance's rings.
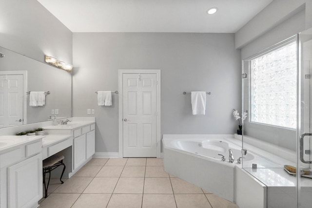
{"label": "white cabinet door of the nearest vanity, left of the stool", "polygon": [[42,198],[41,153],[8,168],[8,208],[34,207]]}

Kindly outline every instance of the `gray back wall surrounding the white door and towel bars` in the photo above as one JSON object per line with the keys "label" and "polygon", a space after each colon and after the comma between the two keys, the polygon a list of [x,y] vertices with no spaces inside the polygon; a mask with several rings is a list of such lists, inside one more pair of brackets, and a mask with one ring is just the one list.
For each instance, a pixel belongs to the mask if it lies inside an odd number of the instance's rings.
{"label": "gray back wall surrounding the white door and towel bars", "polygon": [[[231,134],[241,103],[240,50],[234,34],[74,33],[74,116],[95,109],[96,151],[118,151],[118,95],[97,105],[95,91],[118,90],[118,69],[161,70],[161,134]],[[192,115],[190,94],[211,91],[206,115]],[[93,115],[89,115],[93,116]]]}

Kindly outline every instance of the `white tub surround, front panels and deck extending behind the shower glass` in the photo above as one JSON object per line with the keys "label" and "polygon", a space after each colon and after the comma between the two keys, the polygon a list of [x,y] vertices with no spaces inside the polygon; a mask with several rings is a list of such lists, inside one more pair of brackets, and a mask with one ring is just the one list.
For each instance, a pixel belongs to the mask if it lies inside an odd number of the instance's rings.
{"label": "white tub surround, front panels and deck extending behind the shower glass", "polygon": [[[218,140],[223,144],[217,145],[215,141]],[[196,144],[193,151],[181,150],[180,145],[186,141]],[[227,200],[235,201],[240,208],[250,208],[251,205],[254,208],[296,207],[296,177],[283,169],[285,164],[295,165],[295,163],[281,157],[287,152],[293,154],[293,151],[278,149],[276,145],[268,148],[271,151],[275,149],[279,153],[278,156],[258,148],[266,148],[269,145],[266,142],[261,143],[251,137],[247,141],[255,141],[257,147],[244,142],[244,149],[247,149],[248,154],[253,155],[254,159],[243,161],[244,169],[242,169],[242,164],[236,163],[235,155],[234,164],[227,162],[229,155],[226,151],[224,151],[226,161],[223,162],[220,161],[221,158],[215,159],[211,155],[208,157],[199,155],[196,150],[198,146],[210,143],[215,144],[216,150],[222,151],[222,148],[226,147],[225,142],[228,143],[229,149],[236,146],[240,150],[241,140],[234,138],[234,135],[163,135],[165,171]],[[253,163],[258,165],[257,169],[252,168]],[[311,193],[312,179],[302,178],[301,187],[301,194]],[[302,203],[307,207],[311,206],[312,198],[305,198],[307,201]]]}

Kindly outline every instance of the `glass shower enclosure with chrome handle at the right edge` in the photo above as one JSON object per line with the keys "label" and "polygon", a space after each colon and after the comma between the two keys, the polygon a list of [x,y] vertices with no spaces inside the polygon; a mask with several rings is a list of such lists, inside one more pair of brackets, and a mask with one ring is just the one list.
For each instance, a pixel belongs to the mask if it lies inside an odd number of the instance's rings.
{"label": "glass shower enclosure with chrome handle at the right edge", "polygon": [[[312,207],[312,29],[243,60],[242,168],[267,208]],[[248,158],[253,158],[248,159]],[[300,168],[297,168],[300,167]]]}

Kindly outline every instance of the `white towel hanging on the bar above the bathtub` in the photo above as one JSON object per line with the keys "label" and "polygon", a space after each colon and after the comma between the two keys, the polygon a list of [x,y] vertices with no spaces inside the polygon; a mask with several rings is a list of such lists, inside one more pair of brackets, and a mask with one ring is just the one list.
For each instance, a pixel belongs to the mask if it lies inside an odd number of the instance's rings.
{"label": "white towel hanging on the bar above the bathtub", "polygon": [[191,92],[193,115],[204,115],[206,111],[206,92]]}

